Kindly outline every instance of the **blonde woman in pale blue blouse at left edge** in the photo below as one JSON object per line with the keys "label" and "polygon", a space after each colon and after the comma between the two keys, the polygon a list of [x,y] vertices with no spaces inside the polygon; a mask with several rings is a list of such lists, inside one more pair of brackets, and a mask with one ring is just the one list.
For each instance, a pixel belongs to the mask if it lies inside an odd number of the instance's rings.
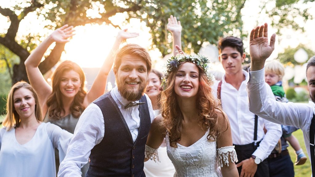
{"label": "blonde woman in pale blue blouse at left edge", "polygon": [[0,129],[1,176],[55,177],[54,148],[62,161],[72,134],[42,122],[37,94],[26,82],[12,86],[6,109]]}

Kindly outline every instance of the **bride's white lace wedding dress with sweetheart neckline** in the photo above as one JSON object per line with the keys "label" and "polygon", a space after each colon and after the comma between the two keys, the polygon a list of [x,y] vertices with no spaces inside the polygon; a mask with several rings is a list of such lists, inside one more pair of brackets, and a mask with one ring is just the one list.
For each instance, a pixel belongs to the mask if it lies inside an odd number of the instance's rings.
{"label": "bride's white lace wedding dress with sweetheart neckline", "polygon": [[189,147],[177,143],[177,148],[169,145],[166,135],[167,155],[175,166],[174,177],[218,177],[216,141],[209,141],[209,130],[197,142]]}

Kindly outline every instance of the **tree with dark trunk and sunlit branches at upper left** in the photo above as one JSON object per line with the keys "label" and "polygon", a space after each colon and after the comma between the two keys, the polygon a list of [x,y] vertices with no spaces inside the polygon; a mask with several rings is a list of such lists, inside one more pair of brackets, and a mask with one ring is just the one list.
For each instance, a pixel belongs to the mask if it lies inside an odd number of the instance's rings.
{"label": "tree with dark trunk and sunlit branches at upper left", "polygon": [[[9,17],[10,26],[8,32],[0,37],[0,43],[11,50],[20,58],[20,63],[13,66],[12,83],[20,80],[28,81],[24,61],[34,49],[30,44],[36,44],[36,36],[29,36],[27,40],[16,41],[15,37],[19,29],[20,22],[31,12],[37,13],[38,16],[51,20],[51,28],[55,29],[64,24],[72,26],[85,25],[89,23],[112,24],[109,17],[116,13],[136,12],[141,9],[142,0],[139,1],[77,1],[77,0],[25,0],[14,7],[2,8],[0,13]],[[106,8],[105,8],[106,6]],[[88,10],[99,10],[99,18],[91,18]],[[64,50],[64,44],[55,45],[50,54],[39,65],[40,71],[44,74],[53,67],[60,59]],[[29,47],[29,48],[28,48]]]}

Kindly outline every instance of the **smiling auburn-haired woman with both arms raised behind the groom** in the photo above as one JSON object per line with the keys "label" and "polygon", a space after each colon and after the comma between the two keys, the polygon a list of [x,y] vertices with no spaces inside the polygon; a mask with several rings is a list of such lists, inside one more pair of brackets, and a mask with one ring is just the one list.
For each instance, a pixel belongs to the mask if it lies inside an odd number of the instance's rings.
{"label": "smiling auburn-haired woman with both arms raised behind the groom", "polygon": [[[85,76],[82,68],[72,61],[62,62],[52,77],[52,87],[45,81],[38,69],[40,61],[48,47],[56,43],[67,43],[73,34],[72,26],[64,25],[49,35],[25,61],[27,76],[38,94],[44,122],[51,122],[60,128],[74,133],[78,118],[83,110],[95,99],[104,94],[108,73],[110,72],[116,50],[123,40],[136,37],[138,33],[129,33],[127,29],[118,32],[116,41],[100,68],[91,89],[84,90]],[[56,153],[56,165],[59,167]],[[83,176],[87,166],[83,169]]]}

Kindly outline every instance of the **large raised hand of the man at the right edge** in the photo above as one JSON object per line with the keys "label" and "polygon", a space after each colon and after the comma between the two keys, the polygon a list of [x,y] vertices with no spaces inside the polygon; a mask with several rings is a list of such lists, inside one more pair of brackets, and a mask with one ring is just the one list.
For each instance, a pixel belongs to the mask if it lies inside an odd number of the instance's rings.
{"label": "large raised hand of the man at the right edge", "polygon": [[[250,32],[249,38],[249,54],[251,71],[256,71],[256,68],[262,69],[265,60],[271,55],[275,48],[276,34],[272,34],[270,44],[268,43],[268,25],[265,23],[262,26],[257,26]],[[254,62],[254,63],[253,63]],[[254,64],[254,68],[253,68]],[[255,70],[252,70],[255,69]]]}

